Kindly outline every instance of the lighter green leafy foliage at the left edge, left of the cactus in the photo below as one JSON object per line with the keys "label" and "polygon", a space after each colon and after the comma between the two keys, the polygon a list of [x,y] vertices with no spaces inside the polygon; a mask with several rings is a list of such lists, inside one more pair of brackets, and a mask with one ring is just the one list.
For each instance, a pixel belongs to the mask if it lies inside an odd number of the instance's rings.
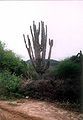
{"label": "lighter green leafy foliage at the left edge, left of the cactus", "polygon": [[21,78],[27,77],[27,64],[0,41],[0,98],[19,96]]}

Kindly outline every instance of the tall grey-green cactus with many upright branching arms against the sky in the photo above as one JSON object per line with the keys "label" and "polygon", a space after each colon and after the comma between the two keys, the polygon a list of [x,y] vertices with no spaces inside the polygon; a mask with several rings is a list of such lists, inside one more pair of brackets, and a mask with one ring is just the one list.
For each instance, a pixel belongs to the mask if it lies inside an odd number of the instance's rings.
{"label": "tall grey-green cactus with many upright branching arms against the sky", "polygon": [[29,35],[27,35],[27,39],[28,39],[28,45],[27,45],[25,35],[23,34],[24,43],[29,53],[29,57],[31,59],[34,69],[36,70],[37,73],[42,75],[43,73],[45,73],[45,71],[49,68],[50,65],[53,40],[49,39],[50,49],[48,54],[48,60],[46,62],[45,57],[46,57],[46,44],[47,44],[47,25],[45,28],[44,22],[41,21],[41,42],[39,41],[40,22],[39,22],[39,27],[37,29],[35,22],[33,21],[33,31],[32,31],[32,27],[30,26],[30,32],[32,36],[33,47]]}

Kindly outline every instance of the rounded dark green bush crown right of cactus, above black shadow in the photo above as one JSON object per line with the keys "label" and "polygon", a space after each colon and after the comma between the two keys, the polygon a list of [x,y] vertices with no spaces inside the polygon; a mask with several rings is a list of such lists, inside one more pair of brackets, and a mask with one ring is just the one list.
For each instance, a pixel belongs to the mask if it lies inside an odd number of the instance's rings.
{"label": "rounded dark green bush crown right of cactus, above black shadow", "polygon": [[74,63],[69,59],[61,61],[57,69],[57,74],[62,79],[77,78],[80,76],[80,64]]}

